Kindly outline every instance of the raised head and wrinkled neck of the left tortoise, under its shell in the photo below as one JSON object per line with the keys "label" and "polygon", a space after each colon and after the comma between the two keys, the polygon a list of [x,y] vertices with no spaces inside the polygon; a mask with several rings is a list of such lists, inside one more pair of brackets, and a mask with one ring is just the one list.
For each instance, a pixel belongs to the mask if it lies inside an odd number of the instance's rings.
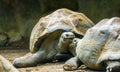
{"label": "raised head and wrinkled neck of the left tortoise, under its shell", "polygon": [[55,56],[56,60],[68,60],[69,58],[73,57],[75,49],[73,50],[70,48],[70,44],[73,43],[74,38],[75,35],[72,32],[63,32],[61,34],[57,48],[58,53]]}

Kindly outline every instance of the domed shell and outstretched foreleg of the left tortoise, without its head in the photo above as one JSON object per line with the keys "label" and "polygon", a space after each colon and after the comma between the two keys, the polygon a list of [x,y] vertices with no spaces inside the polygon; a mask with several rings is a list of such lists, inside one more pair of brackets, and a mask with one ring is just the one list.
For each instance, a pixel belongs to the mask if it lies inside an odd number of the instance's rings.
{"label": "domed shell and outstretched foreleg of the left tortoise, without its head", "polygon": [[52,14],[42,17],[34,26],[30,37],[31,54],[16,58],[13,65],[29,67],[51,61],[56,55],[59,55],[57,54],[59,52],[57,44],[63,32],[73,32],[76,36],[80,36],[84,35],[93,25],[94,23],[83,13],[65,8],[58,9]]}

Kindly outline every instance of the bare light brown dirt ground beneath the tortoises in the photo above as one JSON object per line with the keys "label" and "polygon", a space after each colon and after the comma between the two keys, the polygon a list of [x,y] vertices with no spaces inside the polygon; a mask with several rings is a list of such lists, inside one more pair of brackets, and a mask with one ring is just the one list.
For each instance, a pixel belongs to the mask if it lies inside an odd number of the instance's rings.
{"label": "bare light brown dirt ground beneath the tortoises", "polygon": [[[28,49],[0,49],[0,55],[7,58],[11,63],[15,58],[23,56],[28,52],[29,52]],[[45,63],[42,65],[38,65],[36,67],[18,68],[18,70],[20,72],[100,72],[100,71],[92,71],[89,69],[84,69],[84,70],[78,69],[76,71],[64,71],[63,64],[64,62]]]}

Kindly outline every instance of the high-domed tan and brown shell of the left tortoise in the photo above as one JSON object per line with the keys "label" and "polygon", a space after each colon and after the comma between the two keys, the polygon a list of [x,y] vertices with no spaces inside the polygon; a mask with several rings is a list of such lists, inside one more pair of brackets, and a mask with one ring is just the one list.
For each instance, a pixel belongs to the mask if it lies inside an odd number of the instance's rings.
{"label": "high-domed tan and brown shell of the left tortoise", "polygon": [[34,26],[30,37],[30,51],[35,53],[41,48],[44,40],[48,39],[49,41],[49,38],[46,37],[50,36],[51,33],[57,31],[58,33],[54,34],[55,36],[53,35],[56,38],[64,31],[84,35],[86,30],[93,25],[94,23],[83,13],[74,12],[65,8],[58,9],[50,15],[42,17]]}

